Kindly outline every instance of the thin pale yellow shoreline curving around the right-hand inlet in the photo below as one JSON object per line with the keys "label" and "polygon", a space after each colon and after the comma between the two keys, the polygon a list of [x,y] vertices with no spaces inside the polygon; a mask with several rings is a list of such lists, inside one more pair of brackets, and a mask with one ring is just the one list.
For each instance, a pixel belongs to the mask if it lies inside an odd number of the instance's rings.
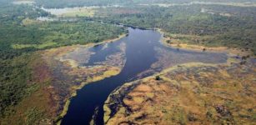
{"label": "thin pale yellow shoreline curving around the right-hand inlet", "polygon": [[[158,32],[160,32],[162,34],[162,38],[161,38],[161,43],[164,44],[164,46],[166,47],[173,47],[173,46],[170,46],[168,45],[168,42],[164,41],[164,37],[163,37],[163,32],[159,31],[160,29],[157,29]],[[177,47],[177,48],[181,48],[181,49],[184,49],[184,50],[191,50],[191,51],[201,51],[202,52],[202,48],[203,46],[197,46],[197,45],[194,45],[195,47],[198,47],[197,49],[189,49],[187,47]],[[176,48],[176,47],[173,47],[173,48]],[[208,47],[207,47],[208,48]],[[221,50],[222,52],[227,52],[227,61],[226,62],[220,62],[220,63],[204,63],[204,62],[187,62],[187,63],[183,63],[183,64],[177,64],[177,65],[174,65],[172,67],[167,67],[165,69],[163,69],[161,72],[155,72],[153,73],[153,75],[151,76],[148,76],[148,77],[143,77],[143,78],[140,78],[140,79],[137,79],[135,81],[132,81],[132,82],[125,82],[123,84],[123,86],[121,87],[118,87],[116,88],[113,92],[111,92],[109,95],[108,95],[108,98],[107,100],[104,102],[104,105],[103,105],[103,110],[104,110],[104,116],[103,116],[103,120],[105,123],[108,122],[108,120],[110,119],[110,114],[112,112],[111,108],[109,107],[109,104],[113,103],[111,102],[111,97],[115,94],[122,94],[122,91],[123,89],[126,89],[128,87],[135,87],[139,84],[139,81],[147,81],[148,79],[154,79],[155,77],[157,76],[162,76],[161,78],[163,80],[166,80],[168,81],[168,78],[167,77],[163,77],[163,75],[167,72],[171,72],[173,70],[179,70],[179,69],[182,69],[182,68],[192,68],[192,67],[219,67],[219,66],[232,66],[233,63],[239,63],[240,62],[240,59],[238,58],[235,58],[233,57],[233,52],[232,52],[232,49],[228,49],[227,47],[213,47],[213,49],[211,50],[208,50],[208,52],[219,52],[219,50]],[[249,57],[249,58],[253,58],[253,57]],[[173,81],[170,81],[170,82],[173,82]],[[131,91],[131,90],[128,90],[128,91]],[[123,99],[121,99],[123,100]]]}

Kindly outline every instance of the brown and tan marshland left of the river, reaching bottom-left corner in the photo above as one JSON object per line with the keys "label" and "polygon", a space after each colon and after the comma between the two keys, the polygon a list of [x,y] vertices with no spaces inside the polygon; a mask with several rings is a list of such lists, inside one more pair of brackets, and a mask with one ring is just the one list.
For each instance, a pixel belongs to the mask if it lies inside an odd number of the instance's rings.
{"label": "brown and tan marshland left of the river, reaching bottom-left corner", "polygon": [[[89,82],[96,82],[121,72],[125,63],[125,44],[120,52],[106,57],[95,66],[81,66],[88,62],[93,52],[88,48],[97,44],[58,47],[36,52],[33,67],[34,92],[24,98],[11,116],[1,119],[3,124],[53,124],[59,122],[68,111],[68,98]],[[38,119],[38,117],[40,117]]]}

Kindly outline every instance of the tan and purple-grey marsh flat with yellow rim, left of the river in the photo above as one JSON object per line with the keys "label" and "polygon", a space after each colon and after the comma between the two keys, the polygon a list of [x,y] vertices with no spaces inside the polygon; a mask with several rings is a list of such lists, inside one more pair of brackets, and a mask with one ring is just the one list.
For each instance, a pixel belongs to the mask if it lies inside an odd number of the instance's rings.
{"label": "tan and purple-grey marsh flat with yellow rim, left of the river", "polygon": [[121,72],[125,63],[125,45],[121,44],[121,51],[109,55],[106,61],[95,66],[81,65],[88,62],[93,53],[89,52],[88,48],[93,46],[94,44],[58,47],[43,52],[44,60],[48,62],[53,76],[50,85],[52,100],[55,103],[53,108],[58,109],[55,115],[60,115],[55,122],[61,120],[68,111],[68,98],[75,96],[76,90],[89,82],[103,80]]}

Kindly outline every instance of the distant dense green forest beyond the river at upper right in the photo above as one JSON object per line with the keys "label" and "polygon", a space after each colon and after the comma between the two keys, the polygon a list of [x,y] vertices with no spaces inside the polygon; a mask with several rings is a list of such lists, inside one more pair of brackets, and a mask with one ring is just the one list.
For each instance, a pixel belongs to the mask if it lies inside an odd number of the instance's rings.
{"label": "distant dense green forest beyond the river at upper right", "polygon": [[[202,12],[203,9],[208,12]],[[223,5],[139,6],[101,8],[95,17],[138,28],[161,28],[166,37],[170,34],[200,36],[189,42],[205,46],[243,47],[256,54],[255,12],[256,7]],[[223,16],[223,13],[227,15]]]}

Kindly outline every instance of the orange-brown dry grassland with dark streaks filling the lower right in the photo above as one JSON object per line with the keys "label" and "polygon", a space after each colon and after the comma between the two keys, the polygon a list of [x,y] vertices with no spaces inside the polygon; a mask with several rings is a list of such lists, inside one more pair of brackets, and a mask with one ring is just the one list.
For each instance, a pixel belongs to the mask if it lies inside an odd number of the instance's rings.
{"label": "orange-brown dry grassland with dark streaks filling the lower right", "polygon": [[107,124],[253,124],[256,68],[248,61],[184,64],[120,87],[104,106]]}

